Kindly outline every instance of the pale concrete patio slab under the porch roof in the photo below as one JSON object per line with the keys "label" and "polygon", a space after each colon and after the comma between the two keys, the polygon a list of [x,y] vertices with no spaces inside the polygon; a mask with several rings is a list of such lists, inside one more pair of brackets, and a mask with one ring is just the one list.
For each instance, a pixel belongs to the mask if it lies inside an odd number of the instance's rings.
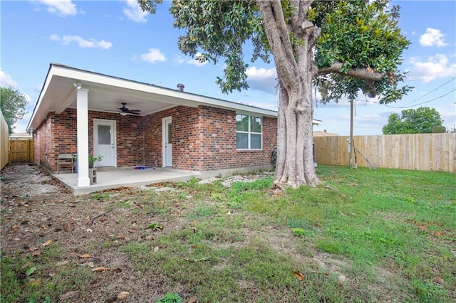
{"label": "pale concrete patio slab under the porch roof", "polygon": [[54,179],[73,191],[73,194],[83,195],[105,189],[122,186],[145,186],[165,181],[189,181],[192,177],[201,178],[199,171],[184,171],[171,168],[134,169],[134,168],[98,168],[96,183],[87,187],[78,187],[78,174],[52,174]]}

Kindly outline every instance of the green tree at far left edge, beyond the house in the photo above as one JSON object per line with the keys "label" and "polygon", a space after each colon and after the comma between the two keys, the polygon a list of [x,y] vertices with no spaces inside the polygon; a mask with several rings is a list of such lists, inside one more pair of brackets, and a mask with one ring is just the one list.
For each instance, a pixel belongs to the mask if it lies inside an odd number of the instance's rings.
{"label": "green tree at far left edge, beyond the house", "polygon": [[14,87],[0,87],[0,108],[6,124],[8,124],[9,134],[13,133],[14,123],[26,115],[27,100],[26,95],[16,90]]}

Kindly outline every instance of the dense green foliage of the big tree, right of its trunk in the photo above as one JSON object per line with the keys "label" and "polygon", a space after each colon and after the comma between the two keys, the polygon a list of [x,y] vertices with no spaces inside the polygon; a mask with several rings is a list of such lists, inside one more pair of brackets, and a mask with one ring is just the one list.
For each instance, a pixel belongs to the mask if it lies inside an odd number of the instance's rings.
{"label": "dense green foliage of the big tree, right of its trunk", "polygon": [[[316,44],[315,61],[319,68],[341,64],[336,73],[342,75],[332,73],[316,80],[321,102],[337,102],[343,95],[353,100],[359,90],[370,97],[380,95],[381,103],[394,102],[406,95],[413,87],[398,87],[405,73],[399,73],[397,66],[410,42],[398,28],[398,9],[388,11],[387,0],[322,2],[326,1],[316,1],[316,6],[324,10],[316,9],[322,34]],[[349,70],[367,68],[385,77],[371,81],[363,79],[362,73],[343,75]],[[395,81],[391,82],[389,75],[395,75]]]}

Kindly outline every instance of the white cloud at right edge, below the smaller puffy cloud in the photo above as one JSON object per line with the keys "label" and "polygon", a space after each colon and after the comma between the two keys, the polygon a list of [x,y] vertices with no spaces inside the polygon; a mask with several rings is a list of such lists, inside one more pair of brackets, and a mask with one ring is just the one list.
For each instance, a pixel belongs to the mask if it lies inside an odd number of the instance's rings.
{"label": "white cloud at right edge, below the smaller puffy cloud", "polygon": [[410,58],[413,67],[410,69],[408,80],[419,80],[428,83],[437,78],[456,75],[456,63],[450,63],[447,55],[437,54],[422,61],[421,58]]}

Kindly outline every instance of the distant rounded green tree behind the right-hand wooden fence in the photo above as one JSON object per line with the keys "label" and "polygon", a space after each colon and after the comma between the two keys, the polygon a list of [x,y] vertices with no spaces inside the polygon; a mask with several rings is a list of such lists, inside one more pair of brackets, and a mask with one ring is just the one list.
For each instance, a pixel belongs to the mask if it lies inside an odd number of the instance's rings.
{"label": "distant rounded green tree behind the right-hand wooden fence", "polygon": [[383,134],[432,134],[446,132],[440,113],[434,108],[418,107],[403,110],[402,116],[391,114],[388,124],[383,127]]}

